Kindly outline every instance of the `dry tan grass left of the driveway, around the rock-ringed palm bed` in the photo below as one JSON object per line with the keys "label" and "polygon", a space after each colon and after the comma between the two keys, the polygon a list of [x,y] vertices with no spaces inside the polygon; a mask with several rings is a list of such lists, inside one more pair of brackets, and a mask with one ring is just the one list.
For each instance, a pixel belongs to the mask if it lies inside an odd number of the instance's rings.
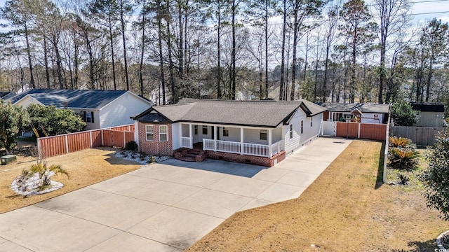
{"label": "dry tan grass left of the driveway, around the rock-ringed palm bed", "polygon": [[22,169],[29,169],[37,160],[18,155],[17,161],[0,166],[0,214],[139,169],[137,162],[116,158],[115,152],[114,148],[93,148],[46,159],[48,165],[61,165],[69,173],[69,179],[64,175],[52,176],[52,180],[62,182],[64,187],[51,193],[29,197],[14,193],[11,183],[20,176]]}

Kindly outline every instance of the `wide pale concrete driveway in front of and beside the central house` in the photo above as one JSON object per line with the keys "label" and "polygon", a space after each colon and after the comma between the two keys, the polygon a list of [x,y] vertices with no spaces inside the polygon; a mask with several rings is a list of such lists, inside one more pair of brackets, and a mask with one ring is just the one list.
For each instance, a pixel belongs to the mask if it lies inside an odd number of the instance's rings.
{"label": "wide pale concrete driveway in front of and beside the central house", "polygon": [[182,251],[236,211],[301,195],[350,140],[275,167],[167,160],[0,215],[0,251]]}

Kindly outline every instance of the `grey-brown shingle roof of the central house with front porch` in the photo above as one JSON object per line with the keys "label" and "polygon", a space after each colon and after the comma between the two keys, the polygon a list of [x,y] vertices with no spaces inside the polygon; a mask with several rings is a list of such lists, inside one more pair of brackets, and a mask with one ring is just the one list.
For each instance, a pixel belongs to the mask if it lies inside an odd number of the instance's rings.
{"label": "grey-brown shingle roof of the central house with front porch", "polygon": [[298,100],[286,101],[232,101],[217,99],[182,99],[175,105],[153,106],[133,119],[142,123],[213,123],[276,127],[286,123],[302,109],[307,116],[326,111],[325,108]]}

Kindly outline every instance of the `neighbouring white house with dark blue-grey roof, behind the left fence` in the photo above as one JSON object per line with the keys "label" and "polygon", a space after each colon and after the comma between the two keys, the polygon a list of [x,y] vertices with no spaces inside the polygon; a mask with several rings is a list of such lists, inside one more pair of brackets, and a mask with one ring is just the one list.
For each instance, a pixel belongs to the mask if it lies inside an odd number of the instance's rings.
{"label": "neighbouring white house with dark blue-grey roof, behind the left fence", "polygon": [[126,90],[48,90],[30,89],[8,97],[19,106],[41,104],[79,113],[86,130],[132,124],[131,116],[152,106],[152,102]]}

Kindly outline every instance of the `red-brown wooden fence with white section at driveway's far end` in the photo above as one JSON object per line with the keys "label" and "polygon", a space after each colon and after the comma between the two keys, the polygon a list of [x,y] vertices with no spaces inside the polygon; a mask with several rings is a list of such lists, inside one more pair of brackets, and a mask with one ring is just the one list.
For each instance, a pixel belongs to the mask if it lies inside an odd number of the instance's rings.
{"label": "red-brown wooden fence with white section at driveway's far end", "polygon": [[377,123],[323,122],[323,135],[385,141],[387,125]]}

